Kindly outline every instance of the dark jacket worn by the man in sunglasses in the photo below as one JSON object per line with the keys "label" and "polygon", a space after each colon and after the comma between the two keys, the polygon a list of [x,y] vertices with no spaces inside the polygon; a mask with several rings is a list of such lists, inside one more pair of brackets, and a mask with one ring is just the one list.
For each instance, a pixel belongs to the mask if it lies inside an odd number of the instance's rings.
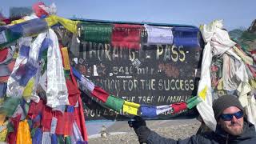
{"label": "dark jacket worn by the man in sunglasses", "polygon": [[205,134],[197,134],[193,135],[190,138],[186,139],[178,139],[175,141],[171,138],[162,138],[160,135],[156,134],[154,131],[150,131],[150,134],[146,140],[148,144],[151,143],[170,143],[170,144],[226,144],[226,143],[234,143],[234,144],[256,144],[256,132],[254,125],[250,122],[244,122],[243,133],[240,136],[232,136],[230,134],[226,134],[224,130],[221,130],[220,127],[217,128],[215,132],[205,133]]}

